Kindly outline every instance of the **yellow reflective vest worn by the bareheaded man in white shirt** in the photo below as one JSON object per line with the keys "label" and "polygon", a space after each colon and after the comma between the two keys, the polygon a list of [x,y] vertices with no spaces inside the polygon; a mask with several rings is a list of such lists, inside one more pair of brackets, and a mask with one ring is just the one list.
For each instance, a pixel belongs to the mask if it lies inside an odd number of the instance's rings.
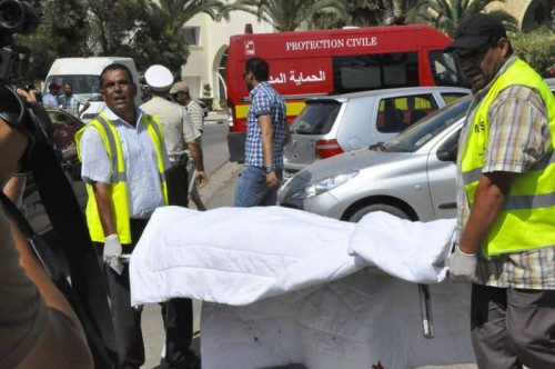
{"label": "yellow reflective vest worn by the bareheaded man in white shirt", "polygon": [[[154,116],[145,113],[142,114],[142,121],[147,127],[147,131],[149,132],[157,151],[157,164],[160,173],[162,195],[164,203],[168,205],[168,188],[165,184],[164,163],[162,159],[162,144],[164,144],[162,126]],[[88,127],[94,127],[98,130],[112,164],[110,190],[115,216],[115,229],[118,230],[120,242],[131,243],[125,160],[123,158],[120,137],[118,136],[115,126],[105,117],[104,113],[100,113],[97,119],[90,121],[84,128],[75,133],[75,146],[79,159],[81,159],[81,137]],[[94,242],[104,242],[104,237],[109,235],[104,235],[102,229],[94,191],[92,186],[89,183],[87,183],[87,193],[89,195],[89,200],[87,202],[85,215],[91,239]]]}

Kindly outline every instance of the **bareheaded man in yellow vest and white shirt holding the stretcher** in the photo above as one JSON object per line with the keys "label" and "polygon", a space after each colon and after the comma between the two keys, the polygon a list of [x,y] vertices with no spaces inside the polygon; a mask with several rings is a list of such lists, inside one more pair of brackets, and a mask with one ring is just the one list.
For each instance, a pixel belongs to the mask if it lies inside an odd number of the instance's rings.
{"label": "bareheaded man in yellow vest and white shirt holding the stretcher", "polygon": [[107,108],[75,134],[87,183],[87,223],[105,280],[121,368],[144,363],[141,307],[132,307],[130,255],[152,212],[168,205],[164,171],[170,167],[158,119],[137,108],[137,86],[119,63],[101,73]]}

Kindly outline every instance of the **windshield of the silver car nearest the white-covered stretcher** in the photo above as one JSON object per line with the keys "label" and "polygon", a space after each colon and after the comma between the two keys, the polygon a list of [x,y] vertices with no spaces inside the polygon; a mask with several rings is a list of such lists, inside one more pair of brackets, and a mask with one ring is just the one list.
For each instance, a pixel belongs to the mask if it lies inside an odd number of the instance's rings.
{"label": "windshield of the silver car nearest the white-covered stretcher", "polygon": [[380,148],[390,152],[414,152],[418,150],[436,134],[463,118],[471,101],[472,97],[456,100],[424,118]]}

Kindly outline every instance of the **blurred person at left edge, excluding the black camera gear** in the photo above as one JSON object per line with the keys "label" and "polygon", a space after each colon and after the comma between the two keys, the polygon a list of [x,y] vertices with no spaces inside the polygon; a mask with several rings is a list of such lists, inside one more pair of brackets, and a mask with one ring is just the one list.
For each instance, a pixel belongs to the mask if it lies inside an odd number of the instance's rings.
{"label": "blurred person at left edge, excluding the black camera gear", "polygon": [[[17,172],[27,143],[0,118],[0,188]],[[11,180],[10,193],[18,196],[22,183]],[[2,207],[0,300],[0,368],[92,368],[79,319]]]}

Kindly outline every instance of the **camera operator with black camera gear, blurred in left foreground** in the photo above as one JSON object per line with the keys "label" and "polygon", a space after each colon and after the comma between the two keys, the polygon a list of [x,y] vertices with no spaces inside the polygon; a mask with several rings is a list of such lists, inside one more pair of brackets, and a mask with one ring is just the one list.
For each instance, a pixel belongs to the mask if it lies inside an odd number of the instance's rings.
{"label": "camera operator with black camera gear, blurred in left foreground", "polygon": [[[34,93],[14,82],[21,68],[13,68],[12,34],[38,23],[30,3],[0,0],[0,368],[117,368],[102,273],[52,122]],[[56,242],[18,209],[18,167],[32,173]]]}

